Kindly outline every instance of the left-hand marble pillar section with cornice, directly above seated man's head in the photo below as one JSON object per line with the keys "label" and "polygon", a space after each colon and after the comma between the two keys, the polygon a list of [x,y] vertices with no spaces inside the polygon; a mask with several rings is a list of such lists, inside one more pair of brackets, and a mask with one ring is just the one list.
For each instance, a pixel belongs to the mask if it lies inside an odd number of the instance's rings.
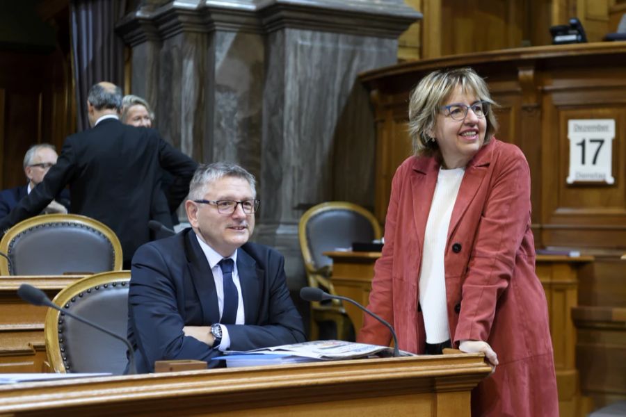
{"label": "left-hand marble pillar section with cornice, directly above seated man's head", "polygon": [[132,51],[132,91],[157,127],[197,161],[259,176],[264,42],[252,0],[143,6],[118,24]]}

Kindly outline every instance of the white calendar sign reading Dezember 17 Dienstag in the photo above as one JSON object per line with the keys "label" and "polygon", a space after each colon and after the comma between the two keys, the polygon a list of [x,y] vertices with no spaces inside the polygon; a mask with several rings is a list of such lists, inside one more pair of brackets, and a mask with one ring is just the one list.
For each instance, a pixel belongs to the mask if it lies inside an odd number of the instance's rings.
{"label": "white calendar sign reading Dezember 17 Dienstag", "polygon": [[565,180],[572,183],[612,184],[613,138],[615,120],[568,120],[570,172]]}

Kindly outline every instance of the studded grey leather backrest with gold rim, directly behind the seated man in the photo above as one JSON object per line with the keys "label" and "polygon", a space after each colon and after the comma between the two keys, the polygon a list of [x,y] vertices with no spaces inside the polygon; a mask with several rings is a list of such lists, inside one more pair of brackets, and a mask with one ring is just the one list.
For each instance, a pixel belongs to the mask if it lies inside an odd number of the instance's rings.
{"label": "studded grey leather backrest with gold rim, directly behind the seated man", "polygon": [[[63,288],[52,302],[126,337],[129,281],[130,271],[102,272]],[[124,373],[127,347],[109,334],[54,309],[48,309],[44,332],[54,372]]]}

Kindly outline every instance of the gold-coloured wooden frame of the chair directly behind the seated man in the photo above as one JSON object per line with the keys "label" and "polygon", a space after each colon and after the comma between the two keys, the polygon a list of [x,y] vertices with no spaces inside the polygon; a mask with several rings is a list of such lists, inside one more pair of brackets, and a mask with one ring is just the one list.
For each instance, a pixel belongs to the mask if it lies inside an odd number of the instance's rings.
{"label": "gold-coloured wooden frame of the chair directly behind the seated man", "polygon": [[[63,288],[52,302],[63,308],[65,304],[72,302],[72,298],[78,297],[79,294],[86,292],[90,288],[113,283],[127,286],[130,278],[131,272],[129,270],[108,271],[91,275]],[[60,314],[60,311],[51,308],[48,308],[46,313],[44,324],[46,354],[49,366],[54,373],[67,373],[65,363],[63,363],[63,355],[61,354],[61,345],[58,341],[58,318]]]}

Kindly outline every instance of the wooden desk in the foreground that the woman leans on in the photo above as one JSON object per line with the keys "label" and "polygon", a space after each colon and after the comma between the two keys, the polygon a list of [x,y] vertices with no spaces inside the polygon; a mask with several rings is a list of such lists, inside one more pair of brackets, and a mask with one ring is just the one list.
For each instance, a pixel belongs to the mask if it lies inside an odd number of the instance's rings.
{"label": "wooden desk in the foreground that the woman leans on", "polygon": [[362,359],[0,386],[13,416],[454,416],[483,354]]}

